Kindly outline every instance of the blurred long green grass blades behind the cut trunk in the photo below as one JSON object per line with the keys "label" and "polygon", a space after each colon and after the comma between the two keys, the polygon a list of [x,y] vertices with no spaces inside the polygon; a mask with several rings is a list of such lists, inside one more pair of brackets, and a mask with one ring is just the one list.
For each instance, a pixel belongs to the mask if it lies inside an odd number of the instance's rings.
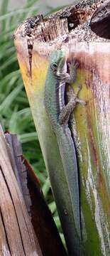
{"label": "blurred long green grass blades behind the cut trunk", "polygon": [[[34,4],[36,4],[36,0],[28,0],[22,9],[8,12],[9,0],[2,1],[0,13],[0,122],[4,131],[9,130],[13,134],[18,134],[23,146],[23,155],[30,161],[35,174],[40,178],[46,201],[53,213],[57,228],[61,232],[60,220],[57,217],[50,182],[45,171],[33,117],[18,67],[16,49],[13,45],[13,32],[18,23],[38,13]],[[62,233],[60,235],[64,240]]]}

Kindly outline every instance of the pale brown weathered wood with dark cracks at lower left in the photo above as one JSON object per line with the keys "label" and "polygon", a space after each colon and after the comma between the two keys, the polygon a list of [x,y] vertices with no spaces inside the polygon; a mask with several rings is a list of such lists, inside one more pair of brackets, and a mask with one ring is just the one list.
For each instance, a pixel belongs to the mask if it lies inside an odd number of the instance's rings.
{"label": "pale brown weathered wood with dark cracks at lower left", "polygon": [[[16,177],[10,163],[7,144],[2,129],[0,129],[0,209],[1,226],[6,235],[6,247],[11,255],[42,255],[36,242],[31,220],[28,216],[23,196],[18,188]],[[1,229],[3,236],[3,228]],[[1,237],[1,249],[4,246],[4,236]],[[4,248],[6,250],[6,248]],[[5,255],[5,254],[4,254]]]}

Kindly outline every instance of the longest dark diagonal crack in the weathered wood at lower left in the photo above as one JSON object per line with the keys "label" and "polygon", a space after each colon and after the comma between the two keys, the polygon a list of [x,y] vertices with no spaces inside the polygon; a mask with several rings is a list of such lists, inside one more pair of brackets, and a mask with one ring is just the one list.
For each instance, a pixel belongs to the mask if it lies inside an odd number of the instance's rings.
{"label": "longest dark diagonal crack in the weathered wood at lower left", "polygon": [[[1,166],[0,166],[0,169],[1,169]],[[7,181],[6,181],[6,177],[5,177],[5,175],[4,175],[4,171],[2,171],[2,169],[1,169],[1,174],[2,174],[2,176],[4,177],[4,181],[5,181],[5,183],[6,183],[6,187],[7,187],[8,191],[9,191],[9,195],[10,195],[11,201],[12,201],[12,203],[13,203],[13,197],[11,196],[11,191],[10,191],[9,185],[8,185],[8,183],[7,183]],[[14,203],[13,203],[13,208],[14,208],[15,215],[16,215],[16,221],[17,221],[17,223],[18,223],[18,216],[17,216],[17,213],[16,213],[16,208],[15,208],[15,206],[14,206]],[[24,216],[23,216],[23,217],[24,217]],[[20,228],[19,223],[18,223],[18,230],[19,230],[19,233],[20,233],[20,235],[21,235],[21,228]],[[22,235],[21,235],[21,244],[22,244],[22,246],[23,246],[23,238],[22,238]],[[23,246],[23,251],[24,251],[24,254],[26,255],[24,246]]]}

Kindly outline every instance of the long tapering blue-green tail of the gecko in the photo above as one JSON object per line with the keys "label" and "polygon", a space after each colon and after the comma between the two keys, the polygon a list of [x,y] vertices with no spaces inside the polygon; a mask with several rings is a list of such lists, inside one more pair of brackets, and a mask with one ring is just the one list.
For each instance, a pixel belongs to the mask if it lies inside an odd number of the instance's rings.
{"label": "long tapering blue-green tail of the gecko", "polygon": [[79,239],[82,238],[81,233],[81,218],[80,218],[80,203],[79,203],[79,178],[77,170],[77,158],[75,152],[75,145],[72,140],[70,130],[63,130],[58,134],[57,142],[59,144],[62,164],[65,170],[68,190],[70,191],[70,198],[72,202],[73,216],[75,220],[75,229]]}

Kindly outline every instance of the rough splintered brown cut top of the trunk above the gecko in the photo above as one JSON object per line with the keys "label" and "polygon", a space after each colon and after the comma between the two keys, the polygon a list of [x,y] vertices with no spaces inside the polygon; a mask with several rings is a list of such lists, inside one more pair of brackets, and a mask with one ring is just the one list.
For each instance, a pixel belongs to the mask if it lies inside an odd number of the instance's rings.
{"label": "rough splintered brown cut top of the trunk above the gecko", "polygon": [[14,38],[16,40],[19,34],[27,39],[30,68],[35,41],[54,45],[58,42],[69,43],[71,39],[98,42],[110,39],[109,14],[107,13],[102,20],[95,21],[94,17],[95,11],[103,2],[101,0],[82,0],[77,5],[65,7],[47,17],[38,15],[27,18],[16,29]]}

